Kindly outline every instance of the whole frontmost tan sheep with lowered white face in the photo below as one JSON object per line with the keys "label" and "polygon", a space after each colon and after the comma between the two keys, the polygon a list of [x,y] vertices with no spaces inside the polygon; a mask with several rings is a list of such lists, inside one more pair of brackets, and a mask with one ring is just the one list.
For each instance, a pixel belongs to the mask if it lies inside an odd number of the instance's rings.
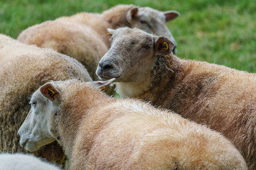
{"label": "whole frontmost tan sheep with lowered white face", "polygon": [[35,151],[57,140],[78,169],[247,169],[220,133],[100,89],[110,81],[50,81],[31,97],[18,134]]}

